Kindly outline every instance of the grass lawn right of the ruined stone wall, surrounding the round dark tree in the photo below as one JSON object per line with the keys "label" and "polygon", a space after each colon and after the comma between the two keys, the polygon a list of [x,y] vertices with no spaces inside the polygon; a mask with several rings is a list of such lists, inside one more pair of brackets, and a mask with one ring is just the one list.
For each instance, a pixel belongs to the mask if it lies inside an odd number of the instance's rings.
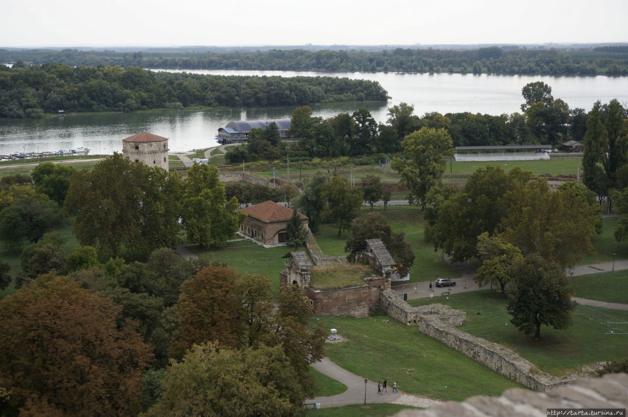
{"label": "grass lawn right of the ruined stone wall, surrounding the round dark tree", "polygon": [[[628,352],[628,335],[605,334],[609,330],[605,323],[614,319],[628,322],[628,311],[578,306],[571,327],[554,330],[543,326],[541,340],[535,341],[511,324],[511,315],[505,308],[506,297],[494,291],[473,291],[431,301],[423,298],[411,300],[410,304],[435,302],[467,311],[467,324],[461,326],[461,330],[509,347],[555,376],[565,376],[602,360],[624,360]],[[481,315],[476,315],[477,311]],[[628,325],[617,326],[628,332]],[[343,332],[340,325],[337,328],[339,333]]]}

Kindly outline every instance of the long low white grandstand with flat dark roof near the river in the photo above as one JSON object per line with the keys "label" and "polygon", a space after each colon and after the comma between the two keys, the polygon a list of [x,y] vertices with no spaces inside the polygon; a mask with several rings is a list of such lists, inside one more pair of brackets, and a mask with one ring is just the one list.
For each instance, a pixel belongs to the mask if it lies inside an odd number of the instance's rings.
{"label": "long low white grandstand with flat dark roof near the river", "polygon": [[455,161],[549,160],[551,145],[456,146]]}

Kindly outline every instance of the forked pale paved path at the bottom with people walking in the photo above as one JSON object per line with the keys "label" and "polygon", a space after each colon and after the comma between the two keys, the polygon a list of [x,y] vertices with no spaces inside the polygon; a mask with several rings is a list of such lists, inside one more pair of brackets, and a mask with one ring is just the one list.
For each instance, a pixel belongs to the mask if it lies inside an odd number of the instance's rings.
{"label": "forked pale paved path at the bottom with people walking", "polygon": [[[306,400],[306,403],[320,403],[321,407],[339,407],[349,404],[364,404],[364,389],[366,388],[366,403],[396,403],[417,407],[430,407],[440,404],[441,401],[423,396],[415,396],[404,393],[393,393],[393,379],[388,381],[388,392],[377,394],[377,381],[369,381],[364,386],[364,378],[352,374],[346,369],[333,363],[328,358],[312,364],[318,372],[340,381],[347,386],[347,391],[329,397],[316,397]],[[382,381],[384,379],[382,378]],[[400,402],[403,401],[403,402]],[[417,404],[417,405],[415,405]]]}

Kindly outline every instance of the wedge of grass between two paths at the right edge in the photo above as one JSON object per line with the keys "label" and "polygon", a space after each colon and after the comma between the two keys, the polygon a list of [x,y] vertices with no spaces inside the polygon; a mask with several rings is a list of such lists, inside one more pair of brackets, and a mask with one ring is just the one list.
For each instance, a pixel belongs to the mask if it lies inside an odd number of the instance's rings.
{"label": "wedge of grass between two paths at the right edge", "polygon": [[628,269],[571,276],[569,279],[577,297],[628,304]]}

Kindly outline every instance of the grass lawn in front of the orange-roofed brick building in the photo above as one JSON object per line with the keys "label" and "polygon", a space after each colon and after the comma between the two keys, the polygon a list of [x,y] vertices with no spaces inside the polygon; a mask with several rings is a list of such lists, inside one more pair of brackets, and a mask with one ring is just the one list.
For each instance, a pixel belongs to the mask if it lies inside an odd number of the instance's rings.
{"label": "grass lawn in front of the orange-roofed brick building", "polygon": [[261,274],[268,276],[273,284],[273,291],[279,288],[279,272],[286,269],[286,260],[281,257],[292,251],[292,247],[279,246],[265,248],[251,241],[229,242],[217,249],[189,248],[198,256],[225,263],[240,274]]}

